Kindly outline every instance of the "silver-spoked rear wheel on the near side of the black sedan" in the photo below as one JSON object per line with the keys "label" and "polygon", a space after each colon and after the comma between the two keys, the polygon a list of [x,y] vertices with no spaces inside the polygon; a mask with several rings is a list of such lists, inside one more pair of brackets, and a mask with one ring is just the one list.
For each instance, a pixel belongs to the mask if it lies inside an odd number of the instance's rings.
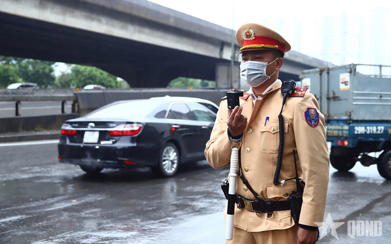
{"label": "silver-spoked rear wheel on the near side of the black sedan", "polygon": [[174,143],[164,144],[159,155],[159,162],[152,170],[163,177],[172,177],[178,170],[179,151]]}

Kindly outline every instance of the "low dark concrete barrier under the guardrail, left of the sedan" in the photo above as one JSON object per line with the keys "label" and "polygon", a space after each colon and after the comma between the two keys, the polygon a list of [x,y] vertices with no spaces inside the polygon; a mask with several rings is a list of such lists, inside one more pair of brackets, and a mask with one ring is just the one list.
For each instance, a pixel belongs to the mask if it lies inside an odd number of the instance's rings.
{"label": "low dark concrete barrier under the guardrail, left of the sedan", "polygon": [[59,130],[61,125],[70,119],[79,117],[77,113],[44,116],[18,116],[0,118],[0,133],[22,131]]}

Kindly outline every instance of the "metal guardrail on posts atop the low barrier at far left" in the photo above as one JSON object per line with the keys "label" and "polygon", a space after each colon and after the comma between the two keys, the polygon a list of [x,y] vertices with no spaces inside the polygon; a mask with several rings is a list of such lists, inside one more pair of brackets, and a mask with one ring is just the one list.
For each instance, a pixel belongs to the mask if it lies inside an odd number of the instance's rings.
{"label": "metal guardrail on posts atop the low barrier at far left", "polygon": [[61,113],[65,114],[66,101],[73,101],[72,113],[76,111],[76,96],[73,95],[1,95],[0,102],[15,102],[15,116],[19,113],[22,101],[61,101]]}

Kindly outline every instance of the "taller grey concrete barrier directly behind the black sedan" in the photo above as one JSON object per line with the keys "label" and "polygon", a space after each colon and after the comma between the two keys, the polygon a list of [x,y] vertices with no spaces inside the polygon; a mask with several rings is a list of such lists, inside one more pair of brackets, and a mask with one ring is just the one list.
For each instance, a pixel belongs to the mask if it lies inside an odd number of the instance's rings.
{"label": "taller grey concrete barrier directly behind the black sedan", "polygon": [[80,116],[102,107],[111,102],[133,99],[149,99],[152,97],[192,97],[202,98],[216,103],[225,96],[227,90],[216,89],[132,89],[132,90],[99,90],[79,91],[76,94],[78,113]]}

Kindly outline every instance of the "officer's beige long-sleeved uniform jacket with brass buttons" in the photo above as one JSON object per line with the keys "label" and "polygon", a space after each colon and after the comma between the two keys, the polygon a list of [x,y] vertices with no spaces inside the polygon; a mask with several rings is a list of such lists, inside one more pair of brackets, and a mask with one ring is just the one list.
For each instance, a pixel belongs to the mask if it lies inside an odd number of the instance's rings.
{"label": "officer's beige long-sleeved uniform jacket with brass buttons", "polygon": [[[283,185],[273,184],[280,143],[278,115],[282,106],[281,84],[281,81],[276,82],[270,91],[261,95],[261,100],[253,102],[251,96],[240,99],[242,113],[248,122],[241,143],[231,142],[228,138],[227,101],[222,101],[211,138],[205,148],[208,163],[219,169],[229,164],[231,146],[238,147],[242,174],[265,201],[287,201],[289,194],[296,191],[294,180]],[[309,109],[315,109],[311,110],[315,120],[308,119],[311,118],[308,115]],[[318,102],[309,92],[304,97],[287,98],[282,115],[284,148],[279,181],[295,177],[295,149],[299,178],[305,182],[299,224],[317,226],[314,222],[323,222],[329,175],[325,117],[319,112]],[[240,178],[237,179],[236,193],[254,199],[250,190],[245,190],[245,184]],[[255,212],[235,208],[234,225],[247,231],[286,229],[294,224],[290,210],[274,211],[273,218],[266,219],[264,213],[257,216]]]}

